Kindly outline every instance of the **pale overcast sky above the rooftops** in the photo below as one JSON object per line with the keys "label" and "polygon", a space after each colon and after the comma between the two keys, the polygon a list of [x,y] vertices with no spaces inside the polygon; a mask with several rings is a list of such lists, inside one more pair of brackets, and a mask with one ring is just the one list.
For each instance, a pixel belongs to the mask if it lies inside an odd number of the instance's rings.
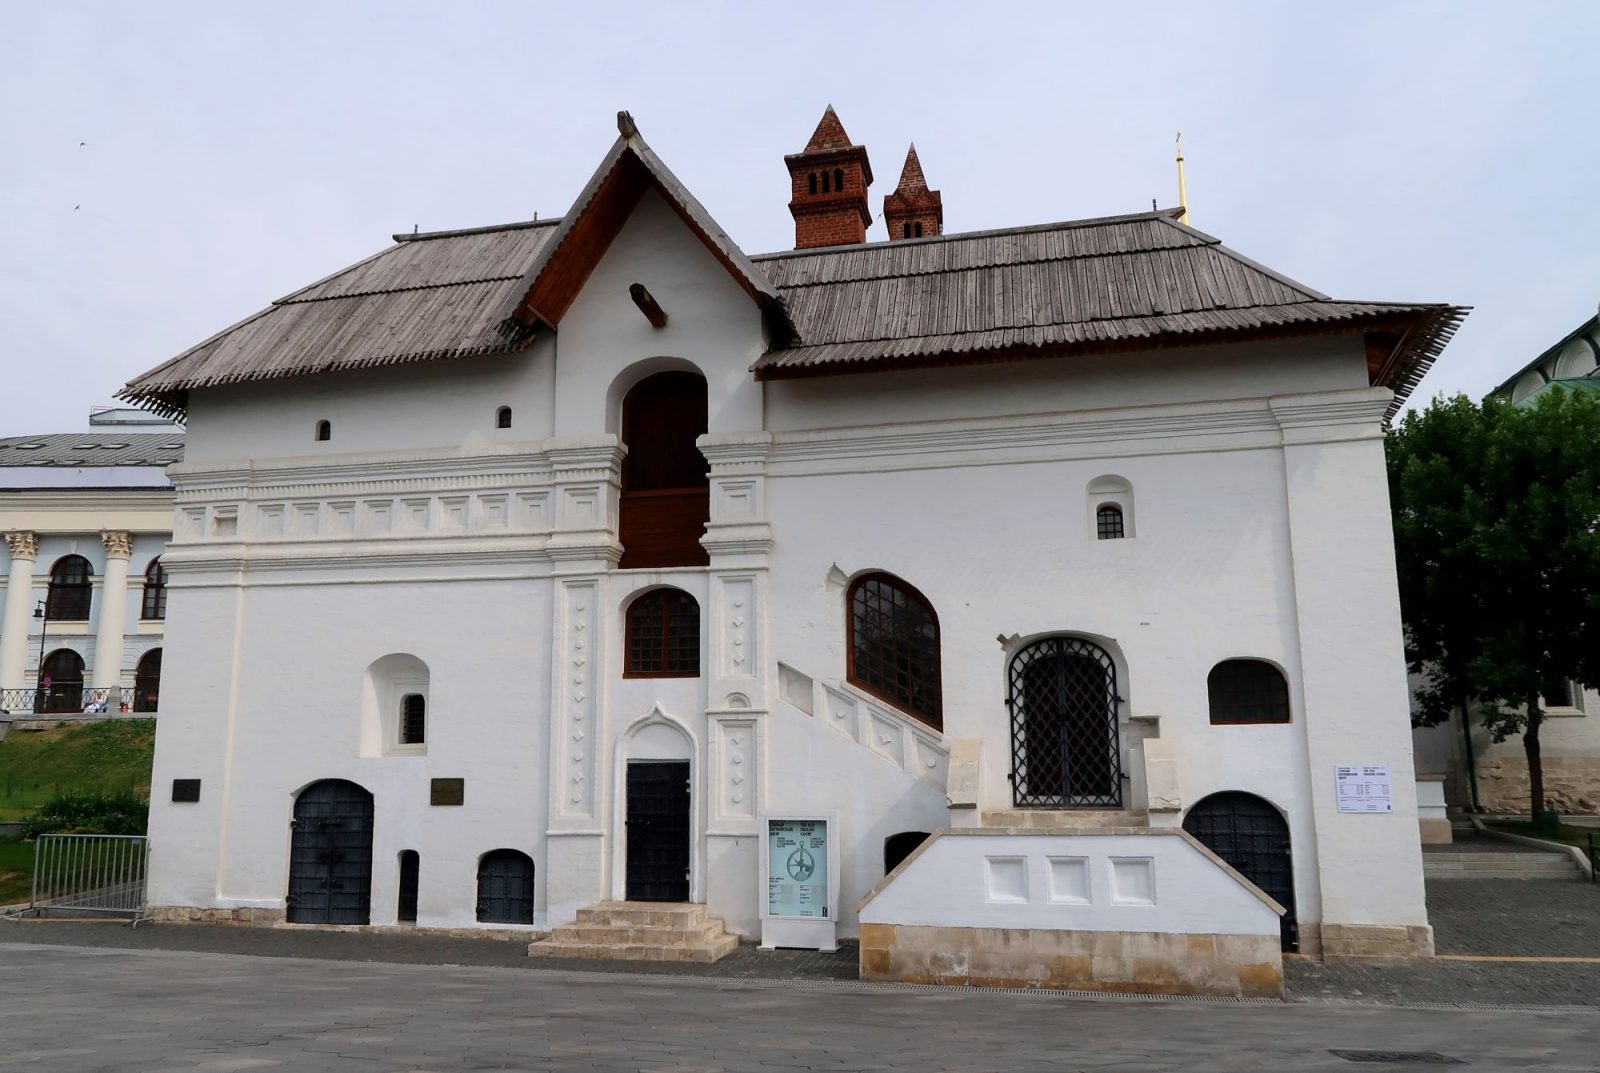
{"label": "pale overcast sky above the rooftops", "polygon": [[394,232],[563,213],[618,109],[789,248],[782,155],[829,102],[874,213],[915,141],[949,232],[1171,205],[1182,130],[1197,227],[1474,305],[1418,397],[1480,395],[1600,301],[1597,40],[1595,0],[0,0],[0,435],[83,427]]}

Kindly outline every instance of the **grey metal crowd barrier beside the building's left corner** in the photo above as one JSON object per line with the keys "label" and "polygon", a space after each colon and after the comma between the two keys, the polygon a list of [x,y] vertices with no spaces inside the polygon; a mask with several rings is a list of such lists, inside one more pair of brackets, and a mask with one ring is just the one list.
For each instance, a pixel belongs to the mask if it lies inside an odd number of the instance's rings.
{"label": "grey metal crowd barrier beside the building's left corner", "polygon": [[144,835],[40,835],[27,911],[144,916],[150,843]]}

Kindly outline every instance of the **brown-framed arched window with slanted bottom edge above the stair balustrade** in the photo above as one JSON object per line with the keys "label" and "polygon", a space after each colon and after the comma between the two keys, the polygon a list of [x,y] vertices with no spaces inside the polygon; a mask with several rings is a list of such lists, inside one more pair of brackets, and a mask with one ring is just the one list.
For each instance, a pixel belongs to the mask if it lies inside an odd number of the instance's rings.
{"label": "brown-framed arched window with slanted bottom edge above the stair balustrade", "polygon": [[850,681],[944,728],[939,697],[939,616],[893,574],[862,574],[850,585]]}

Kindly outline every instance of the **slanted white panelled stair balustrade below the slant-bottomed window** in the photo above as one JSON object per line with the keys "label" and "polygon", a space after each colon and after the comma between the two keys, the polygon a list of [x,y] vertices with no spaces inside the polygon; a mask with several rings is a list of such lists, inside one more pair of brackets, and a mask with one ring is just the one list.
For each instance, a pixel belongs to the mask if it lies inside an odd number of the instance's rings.
{"label": "slanted white panelled stair balustrade below the slant-bottomed window", "polygon": [[846,688],[813,680],[787,664],[778,664],[778,697],[835,734],[851,739],[874,756],[946,790],[950,750],[944,737],[917,720]]}

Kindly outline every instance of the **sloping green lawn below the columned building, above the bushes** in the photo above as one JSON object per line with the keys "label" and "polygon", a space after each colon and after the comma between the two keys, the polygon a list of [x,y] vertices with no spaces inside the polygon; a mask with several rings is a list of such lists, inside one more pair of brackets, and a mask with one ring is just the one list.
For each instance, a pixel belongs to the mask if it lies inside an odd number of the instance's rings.
{"label": "sloping green lawn below the columned building, above the bushes", "polygon": [[[154,756],[155,720],[11,731],[0,742],[0,820],[22,819],[29,809],[62,792],[133,790],[149,795]],[[5,857],[0,856],[3,872]]]}

